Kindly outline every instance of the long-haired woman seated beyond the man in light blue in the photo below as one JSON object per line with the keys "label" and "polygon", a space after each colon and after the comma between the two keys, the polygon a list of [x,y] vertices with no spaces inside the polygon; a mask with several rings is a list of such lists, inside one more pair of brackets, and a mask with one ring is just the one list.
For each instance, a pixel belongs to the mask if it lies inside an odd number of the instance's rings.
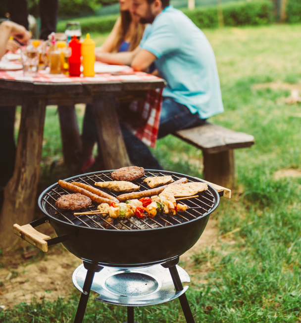
{"label": "long-haired woman seated beyond the man in light blue", "polygon": [[[132,0],[119,0],[119,5],[120,17],[102,46],[95,49],[96,60],[98,60],[98,53],[132,51],[142,39],[145,25],[140,24],[137,17],[132,13]],[[85,172],[95,162],[92,153],[96,141],[98,142],[98,134],[94,121],[93,106],[87,104],[82,133],[83,159],[80,170],[82,172]],[[98,156],[100,158],[95,163],[93,170],[101,170],[102,167],[99,142]]]}

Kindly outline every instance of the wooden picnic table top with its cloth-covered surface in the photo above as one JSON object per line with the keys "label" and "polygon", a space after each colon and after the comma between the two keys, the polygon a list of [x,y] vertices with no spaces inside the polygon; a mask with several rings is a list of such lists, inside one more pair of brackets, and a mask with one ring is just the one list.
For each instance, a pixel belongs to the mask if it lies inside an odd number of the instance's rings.
{"label": "wooden picnic table top with its cloth-covered surface", "polygon": [[24,77],[23,71],[0,71],[0,89],[26,91],[36,94],[143,91],[162,89],[163,79],[131,67],[120,73],[96,74],[94,77],[70,77],[39,71],[38,77]]}

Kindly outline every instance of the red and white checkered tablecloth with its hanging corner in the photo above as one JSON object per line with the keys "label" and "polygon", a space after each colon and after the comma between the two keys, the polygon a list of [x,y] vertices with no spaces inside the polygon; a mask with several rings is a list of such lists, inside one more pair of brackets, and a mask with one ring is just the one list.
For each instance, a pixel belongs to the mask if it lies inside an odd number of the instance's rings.
{"label": "red and white checkered tablecloth with its hanging corner", "polygon": [[[144,72],[135,72],[131,67],[124,69],[120,73],[115,73],[115,75],[103,73],[95,74],[94,77],[70,77],[64,74],[53,75],[49,73],[49,69],[39,71],[37,77],[23,76],[22,70],[0,71],[0,79],[47,83],[95,83],[110,81],[116,82],[159,80],[159,78],[157,78],[156,76]],[[129,108],[131,111],[135,112],[136,116],[139,116],[141,122],[133,124],[127,123],[127,126],[137,138],[153,148],[155,147],[155,142],[157,139],[161,104],[162,89],[156,89],[147,91],[144,100],[132,102]]]}

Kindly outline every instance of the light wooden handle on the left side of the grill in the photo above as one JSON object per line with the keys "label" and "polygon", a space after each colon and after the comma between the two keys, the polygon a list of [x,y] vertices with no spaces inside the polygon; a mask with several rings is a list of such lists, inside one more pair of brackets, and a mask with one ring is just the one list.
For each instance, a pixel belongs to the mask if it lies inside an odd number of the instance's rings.
{"label": "light wooden handle on the left side of the grill", "polygon": [[14,224],[13,231],[16,235],[20,236],[35,247],[44,252],[48,251],[48,243],[46,240],[50,239],[50,236],[37,231],[30,224],[26,224],[25,226]]}

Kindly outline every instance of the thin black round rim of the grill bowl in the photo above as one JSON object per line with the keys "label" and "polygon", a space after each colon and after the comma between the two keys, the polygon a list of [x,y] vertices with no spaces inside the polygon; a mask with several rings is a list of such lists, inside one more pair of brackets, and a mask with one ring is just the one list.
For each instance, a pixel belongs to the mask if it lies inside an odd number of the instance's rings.
{"label": "thin black round rim of the grill bowl", "polygon": [[[89,175],[98,175],[98,174],[102,174],[102,173],[106,173],[106,172],[113,172],[115,171],[115,169],[113,170],[105,170],[105,171],[99,171],[99,172],[92,172],[92,173],[85,173],[85,174],[80,174],[80,175],[76,175],[76,176],[72,176],[72,177],[69,177],[63,181],[69,181],[69,180],[73,180],[73,179],[78,179],[79,177],[81,176],[89,176]],[[165,171],[165,170],[156,170],[156,169],[145,169],[145,172],[164,172],[166,173],[166,175],[175,175],[175,176],[181,176],[181,177],[193,177],[193,176],[190,176],[190,175],[185,175],[185,174],[181,174],[181,173],[176,173],[176,172],[170,172],[170,171]],[[52,217],[49,213],[47,213],[45,210],[44,210],[44,207],[42,205],[42,202],[43,202],[43,197],[44,195],[50,190],[52,189],[53,186],[57,185],[57,183],[49,186],[48,188],[46,188],[39,196],[38,198],[38,205],[40,207],[40,210],[48,217],[50,218],[52,221],[56,221],[56,222],[59,222],[59,223],[62,223],[63,225],[66,225],[66,226],[70,226],[72,228],[76,228],[78,230],[97,230],[97,231],[111,231],[111,232],[136,232],[136,231],[150,231],[150,230],[167,230],[167,229],[172,229],[172,228],[175,228],[175,227],[178,227],[178,226],[182,226],[182,225],[186,225],[186,224],[189,224],[189,223],[192,223],[194,221],[198,221],[200,219],[203,219],[205,217],[207,217],[210,213],[212,213],[218,206],[219,204],[219,194],[217,192],[217,190],[211,186],[210,184],[208,184],[207,182],[204,182],[202,181],[201,179],[199,178],[196,178],[196,177],[193,177],[195,180],[199,181],[199,182],[203,182],[203,183],[206,183],[211,189],[212,189],[212,193],[214,195],[214,198],[215,198],[215,205],[213,206],[213,208],[207,212],[207,213],[204,213],[202,216],[196,218],[196,219],[193,219],[193,220],[190,220],[190,221],[187,221],[187,222],[184,222],[184,223],[180,223],[180,224],[175,224],[175,225],[172,225],[172,226],[168,226],[168,227],[163,227],[163,228],[152,228],[152,229],[140,229],[140,230],[107,230],[107,229],[102,229],[102,228],[89,228],[89,227],[82,227],[82,226],[78,226],[78,225],[75,225],[75,224],[69,224],[68,222],[65,222],[65,221],[62,221],[62,220],[59,220],[59,219],[55,219],[54,217]],[[123,233],[125,234],[125,233]]]}

